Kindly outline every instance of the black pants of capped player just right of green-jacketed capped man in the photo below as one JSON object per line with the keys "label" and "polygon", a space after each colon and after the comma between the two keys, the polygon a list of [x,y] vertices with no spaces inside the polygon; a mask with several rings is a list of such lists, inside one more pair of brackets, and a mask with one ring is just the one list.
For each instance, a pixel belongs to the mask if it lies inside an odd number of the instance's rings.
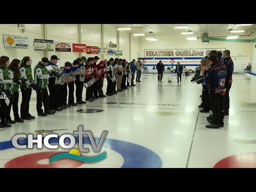
{"label": "black pants of capped player just right of green-jacketed capped man", "polygon": [[60,84],[49,84],[50,110],[57,109],[60,106]]}

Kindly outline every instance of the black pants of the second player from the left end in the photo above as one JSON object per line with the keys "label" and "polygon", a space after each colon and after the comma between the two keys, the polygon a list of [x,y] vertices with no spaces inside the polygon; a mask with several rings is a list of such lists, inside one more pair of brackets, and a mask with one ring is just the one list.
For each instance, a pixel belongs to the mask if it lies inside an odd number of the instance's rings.
{"label": "black pants of the second player from the left end", "polygon": [[11,120],[11,108],[13,110],[14,119],[20,119],[19,112],[18,112],[19,111],[18,102],[19,102],[19,92],[13,92],[13,94],[11,94],[10,104],[7,107],[7,111],[5,115],[7,121]]}

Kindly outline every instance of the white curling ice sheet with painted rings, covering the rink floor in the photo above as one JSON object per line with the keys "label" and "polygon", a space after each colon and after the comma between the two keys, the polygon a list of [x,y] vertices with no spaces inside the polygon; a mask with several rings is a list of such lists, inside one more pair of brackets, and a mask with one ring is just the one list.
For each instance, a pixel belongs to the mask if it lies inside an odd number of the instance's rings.
{"label": "white curling ice sheet with painted rings, covering the rink floor", "polygon": [[[123,92],[46,117],[37,116],[33,90],[30,114],[36,119],[0,129],[0,167],[256,167],[256,76],[233,75],[230,112],[220,129],[207,129],[206,117],[211,113],[199,113],[202,86],[191,83],[191,76],[182,76],[179,83],[175,77],[164,74],[161,83],[157,75],[142,74],[141,82]],[[105,79],[104,94],[106,87]],[[19,109],[20,103],[21,93]],[[60,159],[50,164],[51,156],[70,149],[37,149],[36,145],[17,149],[11,145],[16,134],[77,137],[74,131],[79,125],[96,139],[108,131],[99,151],[106,152],[105,159],[96,163]],[[82,156],[98,155],[91,143],[85,142],[83,147],[89,153],[81,152]],[[78,149],[78,143],[73,148]]]}

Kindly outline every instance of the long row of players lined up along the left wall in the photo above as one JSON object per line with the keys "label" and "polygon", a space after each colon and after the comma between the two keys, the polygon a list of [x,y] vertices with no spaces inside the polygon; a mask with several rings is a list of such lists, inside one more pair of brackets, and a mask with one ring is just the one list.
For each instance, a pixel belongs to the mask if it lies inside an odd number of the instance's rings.
{"label": "long row of players lined up along the left wall", "polygon": [[[4,100],[0,99],[1,128],[9,127],[10,124],[16,122],[24,122],[23,119],[35,118],[29,113],[32,89],[36,90],[38,116],[46,116],[53,115],[56,111],[70,106],[81,105],[92,102],[94,99],[106,97],[102,91],[105,74],[108,81],[106,93],[108,96],[116,94],[117,91],[121,92],[128,86],[135,86],[133,84],[136,70],[135,60],[127,63],[122,59],[110,58],[109,61],[103,60],[97,65],[99,60],[97,56],[88,59],[82,57],[77,58],[73,63],[65,62],[65,66],[60,68],[57,66],[58,60],[57,55],[52,55],[50,61],[48,58],[42,58],[34,68],[35,80],[33,80],[30,57],[24,57],[21,61],[14,59],[11,63],[9,57],[2,56],[0,58],[0,90],[10,100],[10,104],[6,105]],[[131,65],[132,67],[130,67]],[[139,65],[141,66],[140,60]],[[133,79],[130,85],[131,77]],[[76,85],[76,103],[74,102],[74,85]],[[82,100],[84,86],[86,87],[85,101]],[[69,89],[68,100],[67,87]],[[20,116],[18,113],[19,88],[22,93]],[[10,116],[11,108],[13,108],[14,121]]]}

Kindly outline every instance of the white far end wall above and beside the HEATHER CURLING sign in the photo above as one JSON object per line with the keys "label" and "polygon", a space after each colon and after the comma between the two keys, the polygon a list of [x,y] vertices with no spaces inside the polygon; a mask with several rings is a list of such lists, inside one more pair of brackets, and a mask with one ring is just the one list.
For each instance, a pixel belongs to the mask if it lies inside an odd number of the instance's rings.
{"label": "white far end wall above and beside the HEATHER CURLING sign", "polygon": [[[243,72],[248,63],[251,61],[252,43],[236,43],[236,42],[220,42],[210,41],[209,43],[201,42],[201,38],[196,41],[187,41],[186,36],[159,36],[159,41],[150,42],[140,37],[140,52],[145,57],[145,49],[214,49],[226,48],[230,50],[231,57],[234,57],[234,65],[236,72]],[[252,37],[244,37],[251,39]],[[238,63],[236,67],[236,62]],[[189,68],[189,67],[188,67]],[[190,67],[194,69],[195,67]]]}

